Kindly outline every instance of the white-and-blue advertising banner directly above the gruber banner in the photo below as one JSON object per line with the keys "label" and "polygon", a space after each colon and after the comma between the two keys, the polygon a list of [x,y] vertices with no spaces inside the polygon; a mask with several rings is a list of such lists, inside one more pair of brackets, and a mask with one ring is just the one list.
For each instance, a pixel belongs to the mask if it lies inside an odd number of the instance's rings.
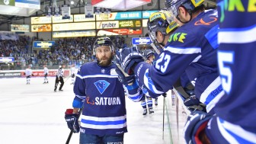
{"label": "white-and-blue advertising banner directly above the gruber banner", "polygon": [[129,12],[111,12],[110,14],[96,14],[96,21],[110,21],[110,20],[132,20],[141,19],[141,11],[129,11]]}

